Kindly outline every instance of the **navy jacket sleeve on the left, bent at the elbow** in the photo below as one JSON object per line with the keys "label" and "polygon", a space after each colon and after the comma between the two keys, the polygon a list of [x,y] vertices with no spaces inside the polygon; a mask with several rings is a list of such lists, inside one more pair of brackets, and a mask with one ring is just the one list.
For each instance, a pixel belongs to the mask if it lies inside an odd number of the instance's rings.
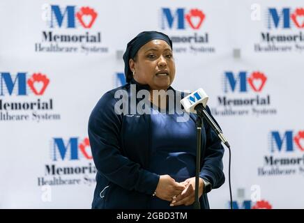
{"label": "navy jacket sleeve on the left, bent at the elbow", "polygon": [[160,176],[142,169],[121,154],[120,134],[123,114],[116,114],[117,100],[105,93],[89,118],[89,140],[93,161],[100,174],[126,190],[153,194]]}

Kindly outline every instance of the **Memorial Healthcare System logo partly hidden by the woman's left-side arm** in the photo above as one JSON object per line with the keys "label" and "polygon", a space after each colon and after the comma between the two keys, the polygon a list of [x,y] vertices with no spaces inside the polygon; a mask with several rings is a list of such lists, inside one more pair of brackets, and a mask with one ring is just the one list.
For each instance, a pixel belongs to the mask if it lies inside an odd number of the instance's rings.
{"label": "Memorial Healthcare System logo partly hidden by the woman's left-side arm", "polygon": [[92,162],[89,138],[52,138],[50,162],[44,169],[44,176],[38,176],[38,186],[95,185],[96,167]]}

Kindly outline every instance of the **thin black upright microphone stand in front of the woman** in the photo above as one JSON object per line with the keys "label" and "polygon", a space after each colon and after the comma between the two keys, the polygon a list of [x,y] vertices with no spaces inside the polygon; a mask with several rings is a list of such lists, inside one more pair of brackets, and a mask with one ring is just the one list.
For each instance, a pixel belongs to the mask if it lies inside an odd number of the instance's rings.
{"label": "thin black upright microphone stand in front of the woman", "polygon": [[201,169],[201,143],[202,143],[202,116],[197,113],[197,163],[195,172],[195,203],[193,204],[194,209],[201,209],[199,203],[199,171]]}

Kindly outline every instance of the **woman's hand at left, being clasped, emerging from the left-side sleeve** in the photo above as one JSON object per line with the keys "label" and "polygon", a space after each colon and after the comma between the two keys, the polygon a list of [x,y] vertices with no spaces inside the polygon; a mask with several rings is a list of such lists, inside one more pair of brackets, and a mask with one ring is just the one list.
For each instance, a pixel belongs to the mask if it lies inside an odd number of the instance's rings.
{"label": "woman's hand at left, being clasped, emerging from the left-side sleeve", "polygon": [[181,194],[185,188],[184,183],[177,183],[174,178],[169,175],[161,175],[155,190],[155,196],[162,200],[172,201],[173,197]]}

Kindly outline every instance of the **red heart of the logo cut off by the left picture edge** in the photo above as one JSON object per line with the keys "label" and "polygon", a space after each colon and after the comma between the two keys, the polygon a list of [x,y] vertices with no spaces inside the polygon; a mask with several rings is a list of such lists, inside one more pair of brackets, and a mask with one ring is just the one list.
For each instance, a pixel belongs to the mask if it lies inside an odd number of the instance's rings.
{"label": "red heart of the logo cut off by the left picture edge", "polygon": [[33,73],[30,79],[27,80],[27,84],[31,88],[31,91],[33,91],[33,93],[36,95],[43,95],[49,83],[50,79],[48,79],[46,75],[43,75],[40,72]]}

